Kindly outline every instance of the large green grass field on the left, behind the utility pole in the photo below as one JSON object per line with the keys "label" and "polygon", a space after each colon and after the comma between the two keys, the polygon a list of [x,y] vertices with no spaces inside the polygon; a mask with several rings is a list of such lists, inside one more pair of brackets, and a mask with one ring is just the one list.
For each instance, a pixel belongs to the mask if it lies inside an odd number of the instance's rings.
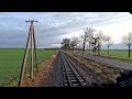
{"label": "large green grass field on the left, behind the utility pole", "polygon": [[[37,50],[37,61],[48,59],[55,50]],[[22,67],[24,50],[22,48],[0,48],[0,86],[16,86]],[[29,73],[31,51],[29,51],[25,74]],[[35,64],[35,63],[34,63]]]}

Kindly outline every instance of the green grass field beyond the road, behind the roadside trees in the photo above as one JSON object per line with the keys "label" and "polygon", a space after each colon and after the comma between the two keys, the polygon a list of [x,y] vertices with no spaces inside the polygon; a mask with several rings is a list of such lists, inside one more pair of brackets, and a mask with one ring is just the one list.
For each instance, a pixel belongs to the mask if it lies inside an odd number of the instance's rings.
{"label": "green grass field beyond the road, behind the roadside trees", "polygon": [[[86,53],[88,53],[88,51],[86,51]],[[101,50],[100,51],[100,54],[101,55],[108,55],[108,51],[107,50]],[[129,52],[128,51],[125,51],[125,50],[110,50],[109,51],[109,55],[110,56],[117,56],[117,57],[129,57]],[[131,56],[130,56],[131,58],[132,58],[132,51],[131,51]]]}

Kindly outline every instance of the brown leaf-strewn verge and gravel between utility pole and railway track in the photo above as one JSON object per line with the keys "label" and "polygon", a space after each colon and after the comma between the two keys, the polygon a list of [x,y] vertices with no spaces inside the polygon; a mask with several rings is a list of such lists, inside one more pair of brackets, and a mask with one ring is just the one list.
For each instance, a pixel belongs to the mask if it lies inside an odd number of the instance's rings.
{"label": "brown leaf-strewn verge and gravel between utility pole and railway track", "polygon": [[40,73],[35,73],[33,79],[24,79],[23,87],[62,87],[62,77],[59,58],[53,55],[48,61],[41,64]]}

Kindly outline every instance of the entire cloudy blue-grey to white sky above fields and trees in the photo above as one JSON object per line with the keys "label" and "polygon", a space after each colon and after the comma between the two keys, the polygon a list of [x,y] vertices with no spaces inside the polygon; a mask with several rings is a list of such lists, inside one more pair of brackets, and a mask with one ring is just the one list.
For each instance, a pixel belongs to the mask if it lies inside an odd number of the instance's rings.
{"label": "entire cloudy blue-grey to white sky above fields and trees", "polygon": [[132,32],[129,12],[0,12],[0,47],[25,47],[30,23],[34,19],[36,46],[61,46],[64,37],[79,36],[85,28],[94,28],[112,36],[114,43]]}

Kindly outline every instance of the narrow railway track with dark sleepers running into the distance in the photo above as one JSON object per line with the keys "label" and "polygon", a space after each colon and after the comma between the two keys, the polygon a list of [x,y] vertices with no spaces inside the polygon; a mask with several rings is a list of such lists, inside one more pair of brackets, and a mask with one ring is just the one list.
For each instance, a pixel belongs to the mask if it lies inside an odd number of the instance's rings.
{"label": "narrow railway track with dark sleepers running into the distance", "polygon": [[63,65],[63,76],[65,87],[82,87],[86,86],[85,79],[80,76],[78,70],[74,67],[67,56],[61,51],[61,59]]}

